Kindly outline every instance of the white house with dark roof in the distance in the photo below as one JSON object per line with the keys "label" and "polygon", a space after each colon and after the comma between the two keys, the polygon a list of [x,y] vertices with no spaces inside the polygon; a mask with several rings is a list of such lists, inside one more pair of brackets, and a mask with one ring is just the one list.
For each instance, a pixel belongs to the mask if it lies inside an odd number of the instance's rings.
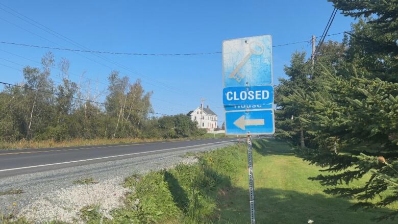
{"label": "white house with dark roof in the distance", "polygon": [[207,129],[209,131],[214,131],[217,128],[217,114],[215,114],[212,110],[210,110],[209,106],[197,107],[193,111],[189,111],[188,113],[191,116],[191,120],[197,122],[198,128]]}

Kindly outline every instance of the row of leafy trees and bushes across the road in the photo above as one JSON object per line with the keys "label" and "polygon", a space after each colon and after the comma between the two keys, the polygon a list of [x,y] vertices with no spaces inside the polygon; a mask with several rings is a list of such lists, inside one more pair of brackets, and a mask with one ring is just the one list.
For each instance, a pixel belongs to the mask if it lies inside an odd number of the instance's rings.
{"label": "row of leafy trees and bushes across the road", "polygon": [[[56,64],[51,52],[42,68],[23,68],[24,80],[0,92],[0,140],[70,140],[74,138],[179,138],[206,133],[187,115],[151,116],[152,91],[118,71],[108,76],[108,91],[69,79],[70,62]],[[60,72],[56,74],[53,68]],[[52,77],[61,79],[56,84]],[[96,103],[98,102],[98,103]]]}

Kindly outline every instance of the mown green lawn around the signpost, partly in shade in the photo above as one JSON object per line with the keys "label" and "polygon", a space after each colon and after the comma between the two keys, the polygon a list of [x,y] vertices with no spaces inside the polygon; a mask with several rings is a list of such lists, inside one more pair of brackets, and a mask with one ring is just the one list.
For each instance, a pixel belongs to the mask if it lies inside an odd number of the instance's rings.
{"label": "mown green lawn around the signpost, partly in shade", "polygon": [[[247,159],[242,157],[233,177],[233,187],[219,198],[220,223],[247,223],[248,207]],[[282,141],[258,140],[254,144],[254,185],[256,220],[259,223],[396,223],[376,222],[372,218],[381,212],[398,209],[398,204],[386,209],[354,212],[349,210],[355,201],[327,195],[326,187],[308,180],[319,174],[319,167],[308,165],[293,154]],[[351,186],[357,186],[360,180]]]}

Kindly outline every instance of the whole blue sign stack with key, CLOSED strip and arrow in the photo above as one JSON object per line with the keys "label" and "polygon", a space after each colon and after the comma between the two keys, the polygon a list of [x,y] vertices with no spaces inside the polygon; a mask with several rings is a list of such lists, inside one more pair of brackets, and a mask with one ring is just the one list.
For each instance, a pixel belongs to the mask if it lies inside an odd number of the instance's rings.
{"label": "whole blue sign stack with key, CLOSED strip and arrow", "polygon": [[273,134],[271,36],[222,42],[227,134]]}

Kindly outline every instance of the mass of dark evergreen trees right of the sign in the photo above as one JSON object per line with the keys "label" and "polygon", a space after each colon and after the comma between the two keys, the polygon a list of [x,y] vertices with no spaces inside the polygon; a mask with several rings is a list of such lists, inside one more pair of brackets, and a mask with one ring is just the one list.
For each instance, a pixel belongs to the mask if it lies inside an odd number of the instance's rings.
{"label": "mass of dark evergreen trees right of the sign", "polygon": [[276,136],[322,167],[310,179],[326,193],[356,198],[354,209],[385,207],[398,201],[398,1],[328,1],[358,22],[323,44],[313,67],[292,55],[275,90]]}

